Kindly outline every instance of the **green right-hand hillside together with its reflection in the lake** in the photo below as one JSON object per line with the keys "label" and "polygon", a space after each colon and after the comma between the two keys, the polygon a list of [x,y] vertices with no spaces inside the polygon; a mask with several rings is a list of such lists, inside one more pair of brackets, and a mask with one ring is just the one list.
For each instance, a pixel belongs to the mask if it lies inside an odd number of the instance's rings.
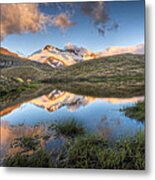
{"label": "green right-hand hillside together with its reflection in the lake", "polygon": [[144,66],[144,55],[103,57],[57,70],[44,82],[87,95],[138,96],[144,95]]}

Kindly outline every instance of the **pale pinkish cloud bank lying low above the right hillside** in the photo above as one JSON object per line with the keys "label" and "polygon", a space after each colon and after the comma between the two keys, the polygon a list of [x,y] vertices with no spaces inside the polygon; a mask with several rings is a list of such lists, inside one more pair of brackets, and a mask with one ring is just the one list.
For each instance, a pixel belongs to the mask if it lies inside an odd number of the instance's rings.
{"label": "pale pinkish cloud bank lying low above the right hillside", "polygon": [[112,56],[117,54],[132,53],[132,54],[144,54],[144,44],[138,44],[134,46],[114,46],[104,51],[97,53],[98,56]]}

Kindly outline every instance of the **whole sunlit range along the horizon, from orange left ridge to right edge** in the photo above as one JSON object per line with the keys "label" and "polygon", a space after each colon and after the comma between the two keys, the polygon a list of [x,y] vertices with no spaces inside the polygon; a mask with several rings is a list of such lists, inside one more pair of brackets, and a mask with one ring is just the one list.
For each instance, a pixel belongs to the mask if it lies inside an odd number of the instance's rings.
{"label": "whole sunlit range along the horizon, from orange left ridge to right edge", "polygon": [[[113,56],[117,54],[144,54],[144,44],[135,46],[113,46],[100,52],[92,52],[83,47],[77,47],[71,43],[67,44],[63,49],[59,49],[52,45],[46,45],[44,48],[34,52],[24,60],[35,61],[42,64],[48,64],[52,68],[61,68],[70,66],[78,62],[97,59],[104,56]],[[6,48],[0,48],[0,54],[22,58]]]}

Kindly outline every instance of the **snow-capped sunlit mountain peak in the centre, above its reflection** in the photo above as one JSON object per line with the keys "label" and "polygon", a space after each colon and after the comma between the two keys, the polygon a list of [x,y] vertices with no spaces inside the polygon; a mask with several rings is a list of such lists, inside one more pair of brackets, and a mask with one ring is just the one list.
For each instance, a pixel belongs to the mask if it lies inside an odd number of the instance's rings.
{"label": "snow-capped sunlit mountain peak in the centre, above its reflection", "polygon": [[30,55],[28,59],[48,64],[53,68],[60,68],[95,57],[95,53],[85,48],[78,48],[74,45],[67,45],[64,49],[46,45],[43,49]]}

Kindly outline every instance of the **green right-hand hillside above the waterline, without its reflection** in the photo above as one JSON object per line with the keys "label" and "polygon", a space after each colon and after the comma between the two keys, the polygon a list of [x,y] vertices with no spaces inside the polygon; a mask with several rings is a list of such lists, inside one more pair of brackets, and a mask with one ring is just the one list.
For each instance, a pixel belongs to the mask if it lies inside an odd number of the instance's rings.
{"label": "green right-hand hillside above the waterline, without its reflection", "polygon": [[[105,81],[144,78],[144,55],[116,55],[93,59],[55,71],[54,79],[63,81]],[[118,80],[119,80],[118,79]]]}

